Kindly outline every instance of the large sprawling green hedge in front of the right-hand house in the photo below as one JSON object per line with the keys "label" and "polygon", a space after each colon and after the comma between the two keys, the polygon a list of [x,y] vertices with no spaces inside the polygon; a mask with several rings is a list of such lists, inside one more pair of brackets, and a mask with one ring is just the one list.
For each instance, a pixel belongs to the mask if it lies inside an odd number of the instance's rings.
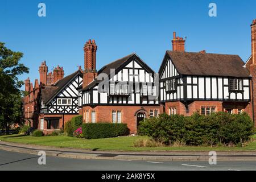
{"label": "large sprawling green hedge in front of the right-hand house", "polygon": [[159,142],[187,145],[238,144],[247,141],[254,133],[254,124],[246,113],[225,112],[191,116],[160,114],[158,118],[142,121],[139,134],[152,137]]}

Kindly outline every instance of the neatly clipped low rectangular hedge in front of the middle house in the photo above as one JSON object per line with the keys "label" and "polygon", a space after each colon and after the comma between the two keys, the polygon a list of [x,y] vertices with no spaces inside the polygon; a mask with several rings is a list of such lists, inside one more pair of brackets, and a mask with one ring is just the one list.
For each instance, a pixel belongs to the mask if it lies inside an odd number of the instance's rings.
{"label": "neatly clipped low rectangular hedge in front of the middle house", "polygon": [[87,139],[110,138],[128,135],[129,129],[125,123],[84,123],[82,137]]}

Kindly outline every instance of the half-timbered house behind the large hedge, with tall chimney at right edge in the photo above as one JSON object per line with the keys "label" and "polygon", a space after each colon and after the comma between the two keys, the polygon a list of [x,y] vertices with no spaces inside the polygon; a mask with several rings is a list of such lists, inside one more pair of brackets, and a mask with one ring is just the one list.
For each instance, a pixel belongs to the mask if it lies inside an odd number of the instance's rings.
{"label": "half-timbered house behind the large hedge, with tall chimney at right edge", "polygon": [[170,115],[245,111],[254,119],[255,32],[254,20],[252,55],[246,64],[238,55],[185,52],[185,40],[174,32],[172,51],[166,51],[159,69],[159,101],[164,111]]}

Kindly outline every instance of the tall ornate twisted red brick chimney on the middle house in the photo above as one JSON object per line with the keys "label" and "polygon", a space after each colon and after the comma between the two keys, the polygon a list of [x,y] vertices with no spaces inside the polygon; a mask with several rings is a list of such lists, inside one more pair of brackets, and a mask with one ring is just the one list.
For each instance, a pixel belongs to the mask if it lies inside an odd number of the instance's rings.
{"label": "tall ornate twisted red brick chimney on the middle house", "polygon": [[84,76],[82,88],[87,86],[97,77],[96,72],[96,51],[95,40],[88,40],[84,45]]}

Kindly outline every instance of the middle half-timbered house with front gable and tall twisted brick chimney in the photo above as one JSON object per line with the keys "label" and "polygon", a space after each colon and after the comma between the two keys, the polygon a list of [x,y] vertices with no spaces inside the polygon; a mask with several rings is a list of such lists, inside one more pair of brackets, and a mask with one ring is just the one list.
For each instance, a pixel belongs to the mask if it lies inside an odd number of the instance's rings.
{"label": "middle half-timbered house with front gable and tall twisted brick chimney", "polygon": [[97,46],[94,40],[84,47],[82,116],[85,123],[127,123],[137,133],[139,121],[157,116],[158,77],[142,59],[131,53],[96,71]]}

